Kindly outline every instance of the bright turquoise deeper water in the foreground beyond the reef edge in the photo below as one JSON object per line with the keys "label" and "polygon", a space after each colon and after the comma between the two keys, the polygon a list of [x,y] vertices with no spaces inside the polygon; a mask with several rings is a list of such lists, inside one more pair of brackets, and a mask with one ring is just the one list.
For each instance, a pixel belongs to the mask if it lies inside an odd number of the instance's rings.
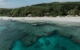
{"label": "bright turquoise deeper water in the foreground beyond the reef edge", "polygon": [[[48,41],[48,44],[46,41]],[[56,34],[50,37],[42,37],[30,47],[23,46],[18,40],[12,50],[80,50],[80,45]]]}

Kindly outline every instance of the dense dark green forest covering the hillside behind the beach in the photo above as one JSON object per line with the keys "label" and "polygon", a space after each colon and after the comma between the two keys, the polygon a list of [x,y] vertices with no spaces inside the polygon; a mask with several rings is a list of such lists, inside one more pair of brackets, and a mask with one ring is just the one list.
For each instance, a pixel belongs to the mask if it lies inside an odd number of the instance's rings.
{"label": "dense dark green forest covering the hillside behind the beach", "polygon": [[52,2],[26,7],[0,8],[0,16],[80,16],[80,2]]}

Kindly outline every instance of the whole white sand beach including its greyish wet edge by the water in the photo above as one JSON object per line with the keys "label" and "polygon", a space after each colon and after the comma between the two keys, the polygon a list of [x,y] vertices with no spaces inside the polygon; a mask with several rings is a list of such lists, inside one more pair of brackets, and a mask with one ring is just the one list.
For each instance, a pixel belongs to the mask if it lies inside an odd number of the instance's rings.
{"label": "whole white sand beach including its greyish wet edge by the water", "polygon": [[0,17],[1,20],[14,20],[26,23],[51,22],[57,24],[80,25],[80,17]]}

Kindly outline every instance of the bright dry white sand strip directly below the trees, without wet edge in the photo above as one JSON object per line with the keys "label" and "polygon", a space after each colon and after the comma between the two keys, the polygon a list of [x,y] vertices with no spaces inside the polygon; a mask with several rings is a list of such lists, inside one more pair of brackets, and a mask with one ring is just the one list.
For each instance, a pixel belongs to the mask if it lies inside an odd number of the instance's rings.
{"label": "bright dry white sand strip directly below the trees, without wet edge", "polygon": [[80,17],[0,17],[3,20],[46,20],[46,21],[62,21],[62,22],[80,22]]}

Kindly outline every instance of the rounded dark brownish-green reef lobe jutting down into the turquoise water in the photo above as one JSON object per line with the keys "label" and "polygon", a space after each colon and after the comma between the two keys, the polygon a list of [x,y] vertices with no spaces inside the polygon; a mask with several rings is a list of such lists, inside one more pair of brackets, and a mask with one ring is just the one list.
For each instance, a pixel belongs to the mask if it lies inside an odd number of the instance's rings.
{"label": "rounded dark brownish-green reef lobe jutting down into the turquoise water", "polygon": [[21,39],[21,43],[26,46],[26,47],[29,47],[31,45],[33,45],[37,40],[38,38],[40,38],[39,36],[25,36]]}

